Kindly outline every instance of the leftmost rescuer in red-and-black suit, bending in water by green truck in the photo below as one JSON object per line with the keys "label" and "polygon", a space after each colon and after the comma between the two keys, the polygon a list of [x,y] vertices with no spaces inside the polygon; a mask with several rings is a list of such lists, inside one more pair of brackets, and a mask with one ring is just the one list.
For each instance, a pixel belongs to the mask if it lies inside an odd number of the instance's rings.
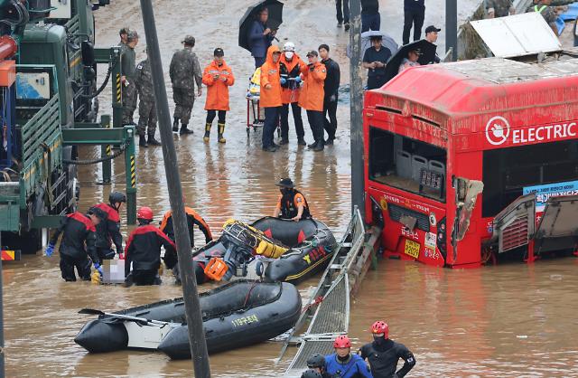
{"label": "leftmost rescuer in red-and-black suit, bending in water by green truck", "polygon": [[[102,276],[102,268],[98,262],[97,249],[95,247],[96,228],[100,222],[106,222],[107,213],[91,207],[87,214],[70,213],[61,222],[61,227],[54,232],[51,241],[46,248],[46,256],[51,257],[54,253],[54,246],[62,234],[61,247],[61,273],[62,279],[76,281],[74,268],[79,274],[79,278],[84,281],[90,280],[90,260],[94,269],[97,269]],[[90,258],[90,260],[89,260]]]}

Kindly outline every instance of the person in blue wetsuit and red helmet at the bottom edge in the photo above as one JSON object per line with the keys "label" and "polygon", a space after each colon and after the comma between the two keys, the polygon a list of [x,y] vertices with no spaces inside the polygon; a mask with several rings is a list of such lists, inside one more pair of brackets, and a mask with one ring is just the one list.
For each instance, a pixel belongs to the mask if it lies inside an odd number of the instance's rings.
{"label": "person in blue wetsuit and red helmet at the bottom edge", "polygon": [[335,353],[325,356],[327,373],[333,378],[373,378],[368,366],[358,354],[351,354],[350,338],[346,335],[337,336],[333,342]]}

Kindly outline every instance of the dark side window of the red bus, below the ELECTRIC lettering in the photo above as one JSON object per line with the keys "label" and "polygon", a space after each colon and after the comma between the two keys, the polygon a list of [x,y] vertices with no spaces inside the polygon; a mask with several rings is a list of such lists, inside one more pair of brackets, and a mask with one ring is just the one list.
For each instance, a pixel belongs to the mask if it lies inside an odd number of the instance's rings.
{"label": "dark side window of the red bus, below the ELECTRIC lettering", "polygon": [[481,213],[493,217],[524,187],[578,180],[578,140],[484,151]]}

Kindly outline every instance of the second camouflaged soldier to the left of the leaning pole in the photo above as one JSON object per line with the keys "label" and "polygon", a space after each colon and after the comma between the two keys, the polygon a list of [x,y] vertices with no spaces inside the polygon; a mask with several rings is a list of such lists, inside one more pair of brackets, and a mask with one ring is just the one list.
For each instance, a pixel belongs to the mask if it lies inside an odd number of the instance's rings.
{"label": "second camouflaged soldier to the left of the leaning pole", "polygon": [[123,100],[123,126],[134,125],[133,114],[136,109],[136,99],[138,93],[136,91],[135,75],[135,47],[138,44],[138,34],[131,30],[126,37],[126,47],[121,52],[121,76],[120,81],[123,85],[122,100]]}

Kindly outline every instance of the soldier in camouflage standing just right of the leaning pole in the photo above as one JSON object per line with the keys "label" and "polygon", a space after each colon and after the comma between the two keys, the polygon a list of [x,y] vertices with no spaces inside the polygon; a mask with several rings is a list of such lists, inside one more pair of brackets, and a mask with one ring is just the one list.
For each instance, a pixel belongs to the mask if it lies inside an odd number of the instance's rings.
{"label": "soldier in camouflage standing just right of the leaning pole", "polygon": [[172,82],[172,99],[174,100],[174,121],[172,131],[179,131],[181,120],[181,135],[192,134],[187,128],[191,118],[192,105],[195,102],[195,82],[197,83],[197,96],[201,94],[202,72],[200,71],[197,55],[192,52],[195,39],[187,35],[182,41],[184,48],[172,55],[170,76]]}

